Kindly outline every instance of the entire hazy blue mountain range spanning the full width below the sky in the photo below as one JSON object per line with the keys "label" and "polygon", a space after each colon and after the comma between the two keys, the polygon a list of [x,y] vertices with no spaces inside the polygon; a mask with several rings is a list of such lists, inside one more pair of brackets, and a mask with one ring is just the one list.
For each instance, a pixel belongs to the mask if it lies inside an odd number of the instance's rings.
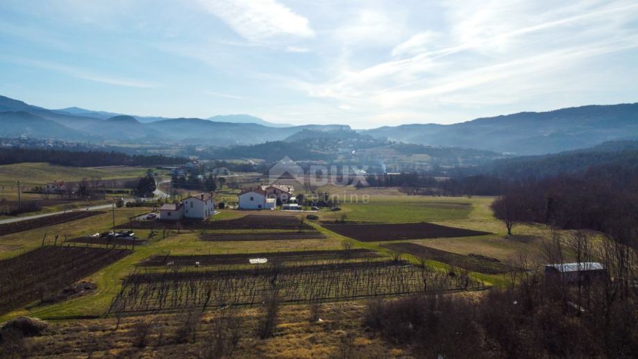
{"label": "entire hazy blue mountain range spanning the full width below the sky", "polygon": [[384,126],[357,133],[347,125],[290,126],[250,115],[167,119],[75,107],[49,110],[1,96],[0,112],[2,136],[87,141],[228,146],[364,135],[429,146],[537,155],[638,139],[638,103],[520,112],[451,125]]}

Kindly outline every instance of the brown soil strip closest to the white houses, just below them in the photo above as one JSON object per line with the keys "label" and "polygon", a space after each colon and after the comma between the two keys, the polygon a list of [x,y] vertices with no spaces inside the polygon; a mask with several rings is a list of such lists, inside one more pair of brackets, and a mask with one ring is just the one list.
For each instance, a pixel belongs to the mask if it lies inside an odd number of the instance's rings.
{"label": "brown soil strip closest to the white houses, just below them", "polygon": [[119,228],[151,229],[167,228],[175,229],[180,226],[184,229],[312,229],[311,226],[294,216],[287,215],[246,215],[244,217],[219,220],[219,221],[132,221],[121,224]]}

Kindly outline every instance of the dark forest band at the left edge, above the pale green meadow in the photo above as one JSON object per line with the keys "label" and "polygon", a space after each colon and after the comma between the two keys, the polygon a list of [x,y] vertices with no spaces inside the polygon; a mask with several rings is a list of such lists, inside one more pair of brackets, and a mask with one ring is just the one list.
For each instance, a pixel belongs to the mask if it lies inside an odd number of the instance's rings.
{"label": "dark forest band at the left edge, above the pale green meadow", "polygon": [[53,165],[73,167],[98,166],[155,166],[187,162],[187,158],[161,155],[127,155],[106,151],[65,151],[57,149],[0,149],[0,165],[21,162],[49,162]]}

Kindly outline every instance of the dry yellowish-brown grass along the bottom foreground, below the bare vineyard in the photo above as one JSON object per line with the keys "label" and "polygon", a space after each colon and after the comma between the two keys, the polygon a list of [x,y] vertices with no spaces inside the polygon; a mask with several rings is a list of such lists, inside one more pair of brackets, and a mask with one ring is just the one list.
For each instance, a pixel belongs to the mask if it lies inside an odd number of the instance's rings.
{"label": "dry yellowish-brown grass along the bottom foreground, below the bare vineyard", "polygon": [[[241,340],[233,358],[342,358],[349,349],[353,358],[410,358],[404,349],[389,346],[370,337],[362,327],[363,301],[327,303],[321,306],[321,321],[309,324],[310,306],[282,306],[274,336],[260,340],[255,335],[259,308],[244,308],[237,313],[242,322]],[[54,322],[42,337],[26,339],[31,356],[38,358],[194,357],[210,337],[218,312],[205,312],[197,325],[195,341],[178,343],[179,315],[126,317],[116,330],[116,319],[85,319]],[[135,331],[141,320],[153,323],[146,347],[136,346]],[[344,340],[349,337],[350,340]],[[349,344],[349,348],[344,348]]]}

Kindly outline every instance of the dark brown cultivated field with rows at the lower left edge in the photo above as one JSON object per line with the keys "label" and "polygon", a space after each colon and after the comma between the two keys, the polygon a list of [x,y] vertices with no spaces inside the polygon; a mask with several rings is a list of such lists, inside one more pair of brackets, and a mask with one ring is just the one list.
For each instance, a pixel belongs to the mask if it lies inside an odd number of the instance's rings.
{"label": "dark brown cultivated field with rows at the lower left edge", "polygon": [[54,301],[66,287],[131,251],[45,246],[0,260],[0,313],[32,301]]}

